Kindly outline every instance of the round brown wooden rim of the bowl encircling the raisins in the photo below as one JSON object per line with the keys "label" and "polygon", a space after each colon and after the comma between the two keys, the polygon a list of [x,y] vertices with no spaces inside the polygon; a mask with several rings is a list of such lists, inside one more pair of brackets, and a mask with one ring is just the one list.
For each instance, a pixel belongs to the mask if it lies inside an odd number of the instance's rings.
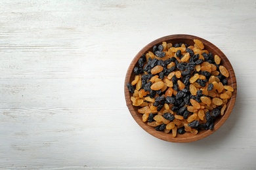
{"label": "round brown wooden rim of the bowl encircling the raisins", "polygon": [[[137,61],[139,60],[140,56],[142,54],[146,54],[146,52],[150,51],[150,49],[156,45],[156,44],[160,44],[163,41],[175,41],[176,39],[189,39],[190,41],[194,40],[194,39],[199,39],[200,41],[203,42],[203,44],[205,46],[209,46],[211,48],[213,48],[217,54],[221,57],[222,61],[224,61],[225,65],[228,65],[228,71],[230,74],[230,77],[228,79],[229,84],[228,85],[232,85],[232,88],[234,88],[234,92],[232,92],[232,97],[229,99],[228,104],[226,105],[226,110],[223,116],[221,116],[221,118],[219,118],[219,122],[217,122],[217,124],[215,124],[213,130],[202,130],[200,131],[200,133],[198,135],[190,135],[189,137],[172,137],[171,134],[169,134],[169,136],[167,135],[163,135],[166,134],[162,131],[156,131],[154,129],[154,127],[150,127],[148,126],[145,122],[142,122],[141,118],[139,118],[135,107],[133,107],[132,103],[131,103],[131,94],[129,93],[129,90],[127,89],[127,83],[130,82],[131,80],[131,75],[133,73],[133,68],[135,67],[135,65],[137,64]],[[181,42],[181,40],[179,40]],[[210,52],[210,51],[209,51]],[[215,55],[215,54],[213,54]],[[186,34],[175,34],[175,35],[167,35],[165,37],[160,37],[159,39],[156,39],[152,42],[150,42],[149,44],[147,44],[146,46],[144,46],[135,56],[135,58],[133,58],[133,60],[131,61],[128,69],[127,69],[127,73],[125,76],[125,84],[124,84],[124,88],[125,88],[125,101],[126,101],[126,105],[129,109],[129,112],[131,113],[131,116],[133,116],[133,118],[135,119],[135,121],[137,122],[137,124],[139,124],[140,127],[142,127],[142,129],[144,129],[146,132],[150,133],[150,135],[153,135],[154,137],[157,137],[158,139],[161,139],[163,141],[169,141],[169,142],[173,142],[173,143],[189,143],[189,142],[193,142],[193,141],[198,141],[200,139],[203,139],[211,134],[213,134],[215,131],[217,131],[217,129],[219,129],[224,122],[226,122],[227,118],[230,116],[232,109],[234,107],[235,101],[236,101],[236,93],[237,93],[237,84],[236,84],[236,76],[234,73],[234,69],[230,63],[230,61],[228,60],[228,58],[224,55],[224,53],[217,48],[217,46],[215,46],[214,44],[212,44],[211,42],[202,39],[201,37],[197,37],[194,35],[186,35]]]}

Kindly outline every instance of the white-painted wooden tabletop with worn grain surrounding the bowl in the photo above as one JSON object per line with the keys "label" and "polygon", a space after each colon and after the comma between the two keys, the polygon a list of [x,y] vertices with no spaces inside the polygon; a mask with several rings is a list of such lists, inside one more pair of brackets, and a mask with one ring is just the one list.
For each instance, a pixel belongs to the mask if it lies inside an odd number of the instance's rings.
{"label": "white-painted wooden tabletop with worn grain surrounding the bowl", "polygon": [[[149,42],[207,39],[238,81],[230,118],[194,143],[152,137],[123,85]],[[0,169],[255,169],[256,1],[0,1]]]}

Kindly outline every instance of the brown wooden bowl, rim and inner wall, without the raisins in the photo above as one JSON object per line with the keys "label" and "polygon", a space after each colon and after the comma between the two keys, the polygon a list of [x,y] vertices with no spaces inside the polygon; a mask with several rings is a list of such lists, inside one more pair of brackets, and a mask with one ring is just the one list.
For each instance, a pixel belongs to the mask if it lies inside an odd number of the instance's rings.
{"label": "brown wooden bowl, rim and inner wall, without the raisins", "polygon": [[[188,45],[194,45],[194,41],[193,41],[194,39],[199,39],[200,41],[203,42],[203,44],[205,46],[204,49],[213,53],[213,55],[217,54],[221,57],[221,59],[222,59],[221,65],[226,67],[226,69],[228,69],[229,74],[230,74],[230,76],[227,78],[228,85],[230,85],[230,86],[232,86],[232,88],[234,88],[234,92],[232,92],[232,97],[229,99],[228,103],[226,103],[227,107],[224,112],[224,115],[219,116],[215,120],[215,126],[214,126],[213,130],[200,130],[198,132],[198,134],[196,134],[196,135],[194,135],[192,133],[188,133],[188,132],[184,133],[182,135],[177,133],[177,137],[172,137],[172,135],[170,133],[164,133],[163,131],[156,131],[156,129],[154,129],[154,127],[150,127],[146,123],[142,122],[142,114],[140,114],[137,111],[139,109],[139,107],[135,107],[132,105],[132,102],[131,102],[132,94],[127,89],[127,83],[131,82],[135,78],[135,74],[133,73],[133,68],[135,67],[135,65],[138,65],[137,61],[139,60],[140,56],[142,56],[142,54],[146,54],[146,52],[148,52],[148,51],[153,51],[152,48],[154,45],[161,44],[161,42],[163,42],[163,41],[165,41],[167,43],[171,42],[172,44],[182,42],[182,43],[186,43]],[[234,103],[236,101],[236,88],[237,88],[236,76],[234,74],[232,65],[230,64],[230,61],[228,61],[228,58],[226,58],[226,56],[223,54],[223,52],[221,52],[221,50],[219,50],[219,48],[217,48],[217,46],[215,46],[214,44],[212,44],[209,41],[206,41],[205,39],[202,39],[200,37],[196,37],[193,35],[168,35],[166,37],[161,37],[160,39],[150,42],[148,45],[146,45],[144,48],[142,48],[142,50],[140,50],[140,52],[135,56],[135,58],[129,65],[129,68],[127,70],[127,74],[125,77],[125,100],[127,103],[127,107],[129,109],[129,111],[131,112],[131,115],[133,116],[135,121],[139,124],[139,126],[142,127],[142,129],[144,129],[146,132],[148,132],[151,135],[153,135],[154,137],[157,137],[164,141],[169,141],[169,142],[174,142],[174,143],[189,143],[192,141],[198,141],[200,139],[203,139],[204,137],[211,135],[212,133],[217,131],[217,129],[219,129],[219,127],[221,127],[224,124],[224,122],[226,121],[228,116],[230,116],[230,113],[232,112],[232,109],[234,107]]]}

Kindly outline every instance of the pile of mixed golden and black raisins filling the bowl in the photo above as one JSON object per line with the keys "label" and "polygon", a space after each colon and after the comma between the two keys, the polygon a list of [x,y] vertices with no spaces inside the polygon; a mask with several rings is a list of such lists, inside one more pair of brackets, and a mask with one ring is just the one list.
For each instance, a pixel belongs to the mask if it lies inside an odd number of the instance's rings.
{"label": "pile of mixed golden and black raisins filling the bowl", "polygon": [[205,50],[200,40],[194,42],[154,46],[140,57],[135,79],[127,84],[142,121],[173,137],[212,130],[234,91],[221,58]]}

